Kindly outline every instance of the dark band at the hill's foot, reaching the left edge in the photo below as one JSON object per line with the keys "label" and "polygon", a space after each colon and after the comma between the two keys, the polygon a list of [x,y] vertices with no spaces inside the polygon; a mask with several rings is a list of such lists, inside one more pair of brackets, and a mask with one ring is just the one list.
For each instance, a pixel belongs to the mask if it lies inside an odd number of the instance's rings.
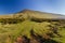
{"label": "dark band at the hill's foot, reaching the left edge", "polygon": [[22,22],[24,22],[25,19],[16,19],[16,18],[13,18],[13,19],[1,19],[0,20],[0,23],[2,24],[2,25],[6,25],[6,24],[18,24],[18,23],[22,23]]}

